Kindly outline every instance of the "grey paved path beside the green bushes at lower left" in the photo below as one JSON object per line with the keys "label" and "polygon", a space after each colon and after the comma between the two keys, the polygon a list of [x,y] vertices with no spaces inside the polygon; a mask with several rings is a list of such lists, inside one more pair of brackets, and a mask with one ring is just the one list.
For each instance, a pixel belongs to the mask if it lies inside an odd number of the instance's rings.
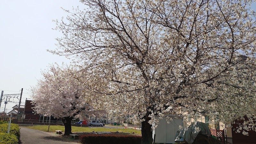
{"label": "grey paved path beside the green bushes at lower left", "polygon": [[21,144],[79,144],[76,142],[68,142],[68,140],[56,137],[48,132],[20,128]]}

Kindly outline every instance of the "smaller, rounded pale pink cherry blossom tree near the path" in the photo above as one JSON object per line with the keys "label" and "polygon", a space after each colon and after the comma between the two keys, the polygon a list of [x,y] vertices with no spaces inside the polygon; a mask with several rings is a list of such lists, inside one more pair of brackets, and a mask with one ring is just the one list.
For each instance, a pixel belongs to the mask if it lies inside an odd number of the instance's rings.
{"label": "smaller, rounded pale pink cherry blossom tree near the path", "polygon": [[72,74],[73,68],[60,68],[51,65],[43,71],[43,79],[31,89],[33,107],[37,114],[61,117],[65,126],[64,135],[71,133],[74,117],[95,114],[86,99],[86,88]]}

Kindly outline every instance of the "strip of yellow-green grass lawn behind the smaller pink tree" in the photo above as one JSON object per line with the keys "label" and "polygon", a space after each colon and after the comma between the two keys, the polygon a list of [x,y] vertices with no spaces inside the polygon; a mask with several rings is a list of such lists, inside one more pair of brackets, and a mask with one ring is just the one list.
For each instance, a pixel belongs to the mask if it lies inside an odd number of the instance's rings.
{"label": "strip of yellow-green grass lawn behind the smaller pink tree", "polygon": [[[48,132],[48,125],[35,125],[35,126],[24,126],[30,129],[36,129],[44,132]],[[79,127],[79,126],[72,126],[71,132],[129,132],[129,133],[137,133],[141,135],[141,131],[134,130],[134,129],[109,129],[104,127],[97,127],[97,128],[89,128],[89,127]],[[65,127],[62,125],[50,125],[49,132],[55,132],[55,130],[65,131]]]}

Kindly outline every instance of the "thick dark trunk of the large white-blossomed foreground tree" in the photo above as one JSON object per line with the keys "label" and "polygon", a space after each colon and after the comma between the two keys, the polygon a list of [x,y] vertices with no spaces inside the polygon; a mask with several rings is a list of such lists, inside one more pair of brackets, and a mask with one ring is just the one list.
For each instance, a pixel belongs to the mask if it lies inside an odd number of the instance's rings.
{"label": "thick dark trunk of the large white-blossomed foreground tree", "polygon": [[147,110],[145,121],[141,122],[141,142],[142,144],[152,144],[153,143],[153,137],[152,137],[152,130],[151,130],[151,124],[148,123],[149,120],[151,120],[150,117],[148,117],[151,114],[151,112],[149,112]]}

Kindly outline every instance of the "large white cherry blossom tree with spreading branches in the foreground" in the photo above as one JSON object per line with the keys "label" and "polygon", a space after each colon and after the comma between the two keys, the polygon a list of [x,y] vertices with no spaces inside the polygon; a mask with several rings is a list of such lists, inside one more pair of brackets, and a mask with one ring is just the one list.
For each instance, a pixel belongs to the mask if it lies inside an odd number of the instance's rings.
{"label": "large white cherry blossom tree with spreading branches in the foreground", "polygon": [[[151,144],[155,115],[250,117],[255,130],[255,12],[251,0],[81,0],[56,20],[59,48],[100,97],[97,108],[142,120]],[[84,74],[83,74],[84,73]],[[92,105],[97,103],[92,102]]]}

